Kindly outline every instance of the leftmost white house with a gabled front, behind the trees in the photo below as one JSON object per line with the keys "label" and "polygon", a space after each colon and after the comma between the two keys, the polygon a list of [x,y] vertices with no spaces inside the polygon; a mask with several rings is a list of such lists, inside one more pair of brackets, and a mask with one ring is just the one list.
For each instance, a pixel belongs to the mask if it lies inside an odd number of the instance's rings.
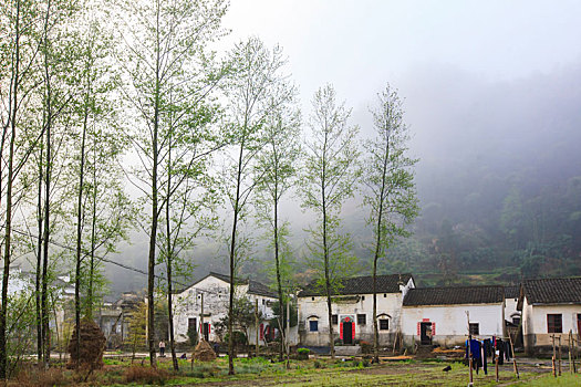
{"label": "leftmost white house with a gabled front, behind the trees", "polygon": [[[260,282],[247,280],[239,281],[235,296],[247,297],[252,304],[258,300],[258,308],[266,318],[274,317],[272,303],[277,301],[276,294]],[[174,334],[176,342],[188,339],[188,328],[196,327],[198,333],[204,333],[207,341],[219,342],[215,325],[228,314],[230,294],[230,276],[209,273],[204,279],[191,284],[174,296]],[[204,299],[204,326],[201,326],[201,302]],[[269,333],[268,323],[260,324],[260,344],[264,344],[264,334]],[[249,343],[256,342],[256,327],[249,330]]]}

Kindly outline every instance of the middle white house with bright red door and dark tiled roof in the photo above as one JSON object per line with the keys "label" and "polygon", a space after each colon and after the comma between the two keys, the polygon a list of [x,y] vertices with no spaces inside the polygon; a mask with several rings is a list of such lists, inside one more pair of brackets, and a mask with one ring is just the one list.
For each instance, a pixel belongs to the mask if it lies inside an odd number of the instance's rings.
{"label": "middle white house with bright red door and dark tiled roof", "polygon": [[[380,344],[391,345],[401,330],[402,300],[415,286],[412,274],[378,275],[377,318]],[[324,291],[311,283],[299,293],[299,342],[305,346],[329,346],[329,314]],[[332,297],[335,339],[373,343],[373,278],[356,276],[342,281]]]}

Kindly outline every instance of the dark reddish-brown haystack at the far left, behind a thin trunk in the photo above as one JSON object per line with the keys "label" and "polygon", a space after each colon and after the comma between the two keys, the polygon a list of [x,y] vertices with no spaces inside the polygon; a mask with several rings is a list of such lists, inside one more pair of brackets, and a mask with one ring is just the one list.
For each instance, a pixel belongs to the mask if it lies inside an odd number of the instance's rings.
{"label": "dark reddish-brown haystack at the far left, behind a thin trunk", "polygon": [[69,354],[71,355],[68,368],[74,368],[76,360],[81,367],[98,369],[103,367],[103,352],[105,351],[106,338],[95,322],[90,320],[81,321],[81,351],[76,353],[76,326],[73,330],[71,342],[69,343]]}

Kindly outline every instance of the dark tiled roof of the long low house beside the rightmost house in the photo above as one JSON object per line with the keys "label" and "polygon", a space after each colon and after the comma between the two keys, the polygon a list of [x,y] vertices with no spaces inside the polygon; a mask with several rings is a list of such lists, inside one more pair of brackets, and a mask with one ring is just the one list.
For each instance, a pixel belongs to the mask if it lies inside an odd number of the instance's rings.
{"label": "dark tiled roof of the long low house beside the rightmost house", "polygon": [[504,301],[505,292],[500,285],[416,287],[406,293],[403,305],[496,304]]}

